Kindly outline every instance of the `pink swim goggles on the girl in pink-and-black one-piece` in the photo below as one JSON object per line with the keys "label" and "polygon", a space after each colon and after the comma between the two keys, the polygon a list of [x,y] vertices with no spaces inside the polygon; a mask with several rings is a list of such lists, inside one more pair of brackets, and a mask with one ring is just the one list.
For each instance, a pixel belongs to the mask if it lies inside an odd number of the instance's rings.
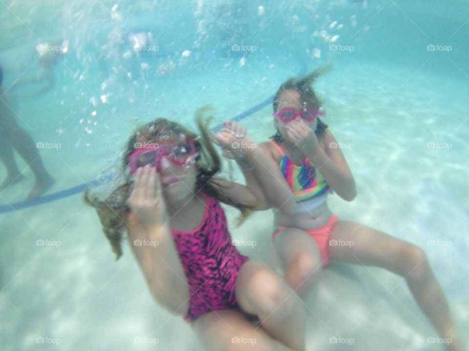
{"label": "pink swim goggles on the girl in pink-and-black one-piece", "polygon": [[153,144],[142,143],[142,145],[143,147],[138,148],[128,156],[131,174],[135,174],[137,169],[148,164],[160,171],[161,161],[164,157],[168,158],[172,164],[184,167],[195,162],[197,156],[195,142],[189,137]]}

